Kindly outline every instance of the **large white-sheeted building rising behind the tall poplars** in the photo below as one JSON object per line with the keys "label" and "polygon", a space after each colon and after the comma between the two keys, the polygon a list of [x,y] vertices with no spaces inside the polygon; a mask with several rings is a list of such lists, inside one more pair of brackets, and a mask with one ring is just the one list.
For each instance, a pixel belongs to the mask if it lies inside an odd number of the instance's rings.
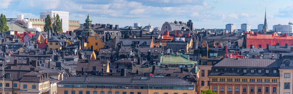
{"label": "large white-sheeted building rising behind the tall poplars", "polygon": [[57,16],[57,14],[58,14],[59,17],[60,17],[63,32],[68,31],[69,30],[69,12],[64,12],[64,11],[43,11],[43,12],[40,12],[40,19],[45,19],[48,14],[50,15],[50,17],[52,19],[52,16],[54,16],[54,13],[55,13],[55,16]]}

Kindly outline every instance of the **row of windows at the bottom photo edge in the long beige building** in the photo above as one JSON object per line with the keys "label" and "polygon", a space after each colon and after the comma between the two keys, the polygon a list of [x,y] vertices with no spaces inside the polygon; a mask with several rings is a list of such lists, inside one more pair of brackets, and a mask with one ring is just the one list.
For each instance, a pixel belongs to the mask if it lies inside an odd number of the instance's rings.
{"label": "row of windows at the bottom photo edge in the long beige building", "polygon": [[[82,94],[83,91],[78,91],[78,94]],[[97,91],[93,91],[93,94],[97,94]],[[9,93],[8,93],[9,94]],[[65,90],[64,94],[68,94],[68,91]],[[75,91],[71,91],[71,94],[75,94]],[[90,94],[90,91],[86,91],[86,94]],[[100,94],[105,94],[104,91],[100,91]],[[112,94],[111,91],[108,92],[108,94]],[[115,94],[119,94],[119,92],[115,92]],[[127,94],[127,92],[122,92],[122,94]],[[130,92],[130,94],[134,94],[134,92]],[[141,92],[137,92],[137,94],[142,94]],[[155,93],[155,94],[159,94],[159,93]],[[163,94],[168,94],[168,93],[163,93]],[[178,93],[173,93],[173,94],[178,94]],[[187,94],[187,93],[183,93],[183,94]]]}

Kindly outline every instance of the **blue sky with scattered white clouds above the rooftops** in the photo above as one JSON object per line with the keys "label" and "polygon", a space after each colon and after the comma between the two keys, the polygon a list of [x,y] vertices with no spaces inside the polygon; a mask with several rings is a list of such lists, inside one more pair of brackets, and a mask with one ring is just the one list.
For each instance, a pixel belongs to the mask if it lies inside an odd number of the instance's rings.
{"label": "blue sky with scattered white clouds above the rooftops", "polygon": [[67,11],[69,20],[85,23],[90,14],[93,24],[119,27],[162,27],[163,23],[188,20],[194,28],[225,28],[226,24],[264,24],[267,10],[268,29],[293,21],[292,0],[0,0],[0,13],[6,18],[39,18],[42,11]]}

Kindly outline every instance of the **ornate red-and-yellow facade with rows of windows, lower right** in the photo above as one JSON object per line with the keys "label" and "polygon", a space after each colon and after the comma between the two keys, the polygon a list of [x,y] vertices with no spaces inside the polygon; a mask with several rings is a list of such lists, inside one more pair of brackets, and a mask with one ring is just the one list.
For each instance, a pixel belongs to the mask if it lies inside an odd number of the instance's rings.
{"label": "ornate red-and-yellow facade with rows of windows, lower right", "polygon": [[[225,81],[220,81],[220,79],[225,79]],[[232,81],[227,81],[227,79],[232,79]],[[212,79],[217,79],[213,81]],[[240,81],[234,81],[235,79],[240,79]],[[247,79],[248,81],[242,81],[242,79]],[[250,82],[250,79],[255,79],[255,82]],[[262,82],[257,82],[257,79],[261,79]],[[270,82],[265,82],[265,79],[270,79]],[[272,82],[272,79],[277,79],[277,82]],[[217,94],[279,94],[279,77],[266,77],[266,76],[209,76],[210,86],[209,89],[213,91],[213,87],[217,87]],[[224,91],[221,92],[221,86],[224,86]],[[228,87],[231,86],[231,92],[228,92]],[[239,92],[235,91],[235,88],[239,87]],[[246,87],[247,92],[243,92],[243,87]],[[250,92],[250,88],[254,87],[254,92]],[[258,87],[261,87],[261,92],[258,92]],[[265,92],[265,87],[269,87],[269,92]],[[276,87],[276,92],[272,92],[272,88]]]}

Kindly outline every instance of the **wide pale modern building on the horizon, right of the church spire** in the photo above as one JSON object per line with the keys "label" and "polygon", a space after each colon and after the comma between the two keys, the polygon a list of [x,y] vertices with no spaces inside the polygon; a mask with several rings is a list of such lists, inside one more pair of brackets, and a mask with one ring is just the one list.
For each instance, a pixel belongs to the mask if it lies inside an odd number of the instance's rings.
{"label": "wide pale modern building on the horizon, right of the church spire", "polygon": [[276,31],[277,33],[293,33],[292,26],[293,26],[293,24],[290,24],[290,25],[282,25],[282,24],[274,25],[273,26],[273,31]]}

